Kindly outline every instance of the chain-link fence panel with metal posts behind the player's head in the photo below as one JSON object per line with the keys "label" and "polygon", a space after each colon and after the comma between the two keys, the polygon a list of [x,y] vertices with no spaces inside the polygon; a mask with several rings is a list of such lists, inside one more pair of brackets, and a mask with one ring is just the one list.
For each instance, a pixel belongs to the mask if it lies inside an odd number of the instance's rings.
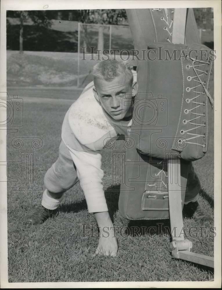
{"label": "chain-link fence panel with metal posts behind the player's head", "polygon": [[93,66],[101,59],[103,51],[107,59],[114,54],[132,65],[133,40],[129,26],[78,23],[77,86],[85,87],[93,80]]}

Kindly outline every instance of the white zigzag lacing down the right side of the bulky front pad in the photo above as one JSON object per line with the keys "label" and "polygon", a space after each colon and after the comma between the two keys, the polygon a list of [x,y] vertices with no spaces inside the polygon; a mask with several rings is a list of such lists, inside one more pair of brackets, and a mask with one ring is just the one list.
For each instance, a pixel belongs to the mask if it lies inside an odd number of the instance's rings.
{"label": "white zigzag lacing down the right side of the bulky front pad", "polygon": [[[184,112],[185,112],[186,114],[189,113],[189,112],[192,111],[192,110],[195,110],[195,109],[201,107],[201,105],[205,106],[205,103],[204,103],[204,102],[201,103],[201,102],[196,102],[196,101],[194,101],[194,100],[196,100],[198,97],[200,97],[200,95],[205,95],[205,93],[206,93],[207,97],[208,97],[209,100],[210,100],[211,106],[213,106],[213,104],[214,104],[214,101],[213,101],[212,97],[210,96],[208,90],[205,88],[205,85],[206,85],[205,81],[202,81],[202,80],[200,79],[201,76],[203,76],[204,74],[207,75],[208,73],[207,73],[207,71],[203,71],[203,70],[200,70],[200,69],[196,68],[196,67],[199,67],[199,66],[203,66],[203,65],[209,64],[209,62],[207,62],[207,61],[199,61],[199,60],[196,60],[196,59],[192,59],[192,60],[193,60],[192,66],[187,65],[186,68],[189,69],[189,68],[192,67],[193,70],[194,70],[194,73],[196,74],[196,76],[194,76],[194,77],[190,77],[190,76],[189,76],[189,77],[187,77],[187,80],[190,81],[190,80],[194,79],[194,81],[198,82],[199,84],[198,84],[197,86],[192,87],[192,88],[187,87],[187,88],[186,88],[186,91],[187,91],[187,92],[190,92],[191,90],[193,90],[194,93],[197,93],[197,94],[199,94],[199,95],[197,95],[196,97],[194,97],[194,98],[192,98],[192,99],[186,99],[186,102],[189,103],[190,101],[192,101],[193,104],[197,104],[198,106],[195,106],[194,108],[192,108],[192,109],[190,109],[190,110],[185,109]],[[195,64],[196,62],[199,62],[199,64]],[[202,74],[198,75],[198,72],[200,72],[200,73],[202,73]],[[198,78],[198,80],[195,79],[196,77]],[[198,91],[194,90],[194,89],[196,89],[196,88],[198,88],[198,87],[203,87],[203,89],[204,89],[204,93],[203,93],[203,92],[198,92]],[[205,134],[204,134],[204,135],[201,135],[201,134],[190,133],[190,131],[192,131],[192,130],[195,130],[195,129],[201,128],[202,126],[204,126],[204,127],[206,126],[206,124],[198,124],[198,123],[192,123],[192,122],[191,122],[191,121],[194,121],[194,120],[200,118],[201,116],[205,116],[205,113],[200,114],[200,113],[194,113],[194,112],[191,112],[191,114],[198,115],[198,117],[193,118],[193,119],[191,119],[191,120],[183,120],[183,124],[187,124],[187,123],[189,123],[189,124],[192,124],[192,125],[195,126],[194,128],[191,128],[191,129],[188,129],[188,130],[181,130],[181,135],[183,135],[183,134],[186,133],[186,132],[189,132],[189,133],[187,133],[187,135],[193,135],[193,136],[194,136],[194,137],[190,137],[190,138],[185,139],[186,142],[187,142],[188,140],[192,140],[192,139],[195,139],[195,138],[198,138],[198,137],[203,137],[203,138],[205,138]],[[188,143],[188,144],[196,144],[196,145],[202,146],[203,148],[206,147],[206,144],[199,144],[199,143],[194,143],[194,142],[187,142],[187,143]]]}

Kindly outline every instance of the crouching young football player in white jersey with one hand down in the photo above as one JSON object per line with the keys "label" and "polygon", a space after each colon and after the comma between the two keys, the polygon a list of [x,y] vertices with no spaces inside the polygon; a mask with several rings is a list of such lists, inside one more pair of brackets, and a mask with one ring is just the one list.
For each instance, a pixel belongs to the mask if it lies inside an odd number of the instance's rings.
{"label": "crouching young football player in white jersey with one hand down", "polygon": [[[121,60],[100,61],[93,68],[93,77],[65,115],[59,157],[44,177],[41,206],[26,215],[25,222],[44,222],[59,206],[64,192],[79,180],[88,211],[100,229],[95,253],[115,256],[118,244],[104,196],[100,150],[109,138],[127,136],[138,85],[136,72]],[[102,232],[105,229],[107,233],[107,228],[110,234],[104,238]]]}

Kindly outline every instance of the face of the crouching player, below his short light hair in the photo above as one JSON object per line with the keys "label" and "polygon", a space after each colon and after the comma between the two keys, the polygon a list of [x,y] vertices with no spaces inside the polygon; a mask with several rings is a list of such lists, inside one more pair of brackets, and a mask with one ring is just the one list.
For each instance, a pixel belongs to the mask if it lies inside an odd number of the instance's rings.
{"label": "face of the crouching player, below his short light hair", "polygon": [[93,92],[113,119],[127,120],[131,118],[131,104],[136,90],[136,82],[131,85],[129,77],[121,75],[112,81],[97,79]]}

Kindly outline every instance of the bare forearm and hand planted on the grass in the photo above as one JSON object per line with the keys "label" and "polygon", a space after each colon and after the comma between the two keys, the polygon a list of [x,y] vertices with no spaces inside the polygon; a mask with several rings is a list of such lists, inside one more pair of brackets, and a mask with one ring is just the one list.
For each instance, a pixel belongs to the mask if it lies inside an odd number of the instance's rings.
{"label": "bare forearm and hand planted on the grass", "polygon": [[94,215],[100,229],[99,244],[95,255],[115,257],[118,251],[118,243],[109,213],[105,211],[94,213]]}

